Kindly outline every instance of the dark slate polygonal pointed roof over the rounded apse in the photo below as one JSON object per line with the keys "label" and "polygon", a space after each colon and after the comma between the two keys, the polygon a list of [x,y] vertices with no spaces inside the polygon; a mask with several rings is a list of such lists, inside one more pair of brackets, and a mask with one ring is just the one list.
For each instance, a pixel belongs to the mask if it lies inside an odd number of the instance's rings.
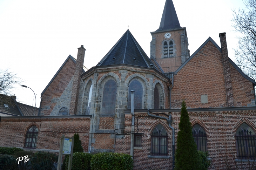
{"label": "dark slate polygonal pointed roof over the rounded apse", "polygon": [[117,41],[107,55],[103,57],[97,66],[109,66],[115,64],[129,64],[133,66],[155,68],[147,54],[130,33],[129,29],[123,34],[119,41]]}

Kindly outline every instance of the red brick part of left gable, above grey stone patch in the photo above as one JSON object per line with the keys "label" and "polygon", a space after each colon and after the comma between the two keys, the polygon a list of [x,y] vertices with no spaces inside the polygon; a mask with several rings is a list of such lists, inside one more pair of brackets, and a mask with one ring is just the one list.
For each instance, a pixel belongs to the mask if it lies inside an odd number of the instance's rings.
{"label": "red brick part of left gable, above grey stone patch", "polygon": [[[54,97],[60,97],[75,73],[75,63],[68,59],[59,74],[42,95],[40,112],[50,115],[56,103],[51,103]],[[49,107],[50,109],[47,109]]]}

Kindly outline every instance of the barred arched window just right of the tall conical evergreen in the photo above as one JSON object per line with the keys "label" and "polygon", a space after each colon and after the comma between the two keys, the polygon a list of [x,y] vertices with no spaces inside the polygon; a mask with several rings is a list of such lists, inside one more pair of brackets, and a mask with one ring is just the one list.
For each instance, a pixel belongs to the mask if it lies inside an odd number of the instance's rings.
{"label": "barred arched window just right of the tall conical evergreen", "polygon": [[192,128],[192,134],[197,145],[197,150],[206,152],[207,137],[204,129],[199,124],[195,124]]}

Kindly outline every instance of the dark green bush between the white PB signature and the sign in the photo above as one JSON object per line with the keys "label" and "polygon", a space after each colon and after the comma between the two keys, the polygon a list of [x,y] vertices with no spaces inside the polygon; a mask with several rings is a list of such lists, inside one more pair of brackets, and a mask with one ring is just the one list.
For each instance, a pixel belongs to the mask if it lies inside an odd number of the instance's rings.
{"label": "dark green bush between the white PB signature and the sign", "polygon": [[36,170],[55,169],[54,162],[58,161],[58,156],[49,152],[35,152],[30,158],[31,166]]}

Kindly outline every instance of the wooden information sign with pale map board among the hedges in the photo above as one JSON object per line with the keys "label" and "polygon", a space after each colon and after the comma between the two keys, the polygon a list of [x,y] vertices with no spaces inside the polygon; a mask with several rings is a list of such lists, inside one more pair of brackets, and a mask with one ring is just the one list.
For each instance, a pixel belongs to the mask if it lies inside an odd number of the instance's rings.
{"label": "wooden information sign with pale map board among the hedges", "polygon": [[73,148],[74,148],[74,136],[72,136],[72,138],[69,138],[69,137],[65,137],[64,135],[62,135],[61,140],[60,140],[60,152],[59,152],[57,170],[61,169],[62,155],[69,155],[68,170],[71,170]]}

